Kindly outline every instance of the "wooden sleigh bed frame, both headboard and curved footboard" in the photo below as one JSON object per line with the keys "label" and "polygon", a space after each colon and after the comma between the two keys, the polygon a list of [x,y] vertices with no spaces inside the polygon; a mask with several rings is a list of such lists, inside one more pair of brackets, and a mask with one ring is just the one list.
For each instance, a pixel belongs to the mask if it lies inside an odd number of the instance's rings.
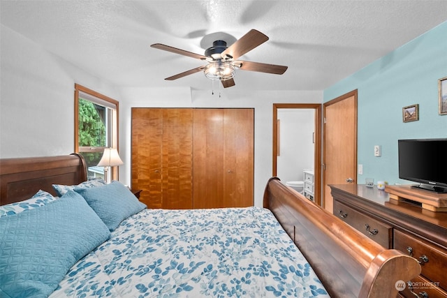
{"label": "wooden sleigh bed frame, both headboard and curved footboard", "polygon": [[[87,179],[81,156],[0,159],[0,205],[31,198],[52,184]],[[420,274],[416,259],[386,249],[271,178],[265,187],[269,208],[300,248],[331,297],[396,297],[396,283]]]}

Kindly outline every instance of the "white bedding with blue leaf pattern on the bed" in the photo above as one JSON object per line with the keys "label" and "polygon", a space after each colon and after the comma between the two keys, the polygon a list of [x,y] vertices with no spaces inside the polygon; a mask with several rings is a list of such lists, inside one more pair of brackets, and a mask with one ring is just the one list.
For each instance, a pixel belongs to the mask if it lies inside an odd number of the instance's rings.
{"label": "white bedding with blue leaf pattern on the bed", "polygon": [[329,297],[268,209],[145,209],[50,297]]}

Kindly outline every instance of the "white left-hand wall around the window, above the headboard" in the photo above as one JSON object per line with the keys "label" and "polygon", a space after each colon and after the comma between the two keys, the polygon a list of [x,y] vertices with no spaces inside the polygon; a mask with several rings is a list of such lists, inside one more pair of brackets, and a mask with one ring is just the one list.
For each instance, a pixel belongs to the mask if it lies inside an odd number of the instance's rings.
{"label": "white left-hand wall around the window, above the headboard", "polygon": [[0,158],[74,150],[75,82],[112,98],[111,84],[1,25]]}

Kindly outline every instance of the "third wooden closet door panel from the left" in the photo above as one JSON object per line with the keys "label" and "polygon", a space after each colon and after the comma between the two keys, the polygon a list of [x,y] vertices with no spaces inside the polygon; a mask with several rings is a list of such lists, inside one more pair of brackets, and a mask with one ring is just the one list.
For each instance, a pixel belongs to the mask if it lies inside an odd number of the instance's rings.
{"label": "third wooden closet door panel from the left", "polygon": [[225,207],[223,110],[193,110],[193,207]]}

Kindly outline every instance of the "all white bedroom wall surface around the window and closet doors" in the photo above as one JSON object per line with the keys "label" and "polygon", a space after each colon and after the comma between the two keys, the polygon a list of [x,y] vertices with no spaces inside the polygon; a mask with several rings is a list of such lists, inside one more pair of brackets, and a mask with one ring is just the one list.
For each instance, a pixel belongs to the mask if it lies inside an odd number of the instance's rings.
{"label": "all white bedroom wall surface around the window and closet doors", "polygon": [[0,158],[71,154],[74,84],[119,100],[119,180],[131,182],[131,107],[254,107],[255,204],[272,174],[272,104],[321,103],[322,91],[119,88],[1,25]]}

